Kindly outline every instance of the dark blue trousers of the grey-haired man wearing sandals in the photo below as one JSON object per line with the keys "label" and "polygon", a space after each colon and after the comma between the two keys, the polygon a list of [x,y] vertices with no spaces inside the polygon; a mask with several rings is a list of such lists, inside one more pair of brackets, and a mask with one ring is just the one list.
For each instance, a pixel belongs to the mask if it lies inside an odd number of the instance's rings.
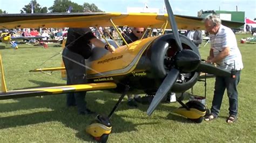
{"label": "dark blue trousers of the grey-haired man wearing sandals", "polygon": [[227,96],[230,103],[230,115],[237,116],[238,113],[238,91],[237,85],[240,81],[241,71],[237,71],[235,78],[217,76],[215,79],[215,90],[212,101],[211,113],[218,117],[224,91],[227,89]]}

